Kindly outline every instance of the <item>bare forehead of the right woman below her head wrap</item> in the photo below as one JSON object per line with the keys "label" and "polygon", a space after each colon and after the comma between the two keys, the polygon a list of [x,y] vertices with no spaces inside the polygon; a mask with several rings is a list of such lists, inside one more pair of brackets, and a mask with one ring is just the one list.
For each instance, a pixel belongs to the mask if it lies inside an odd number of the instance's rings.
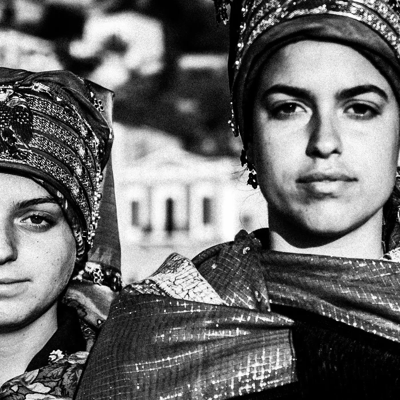
{"label": "bare forehead of the right woman below her head wrap", "polygon": [[325,90],[374,84],[391,90],[379,70],[353,48],[312,40],[288,44],[274,53],[262,70],[260,83],[311,85]]}

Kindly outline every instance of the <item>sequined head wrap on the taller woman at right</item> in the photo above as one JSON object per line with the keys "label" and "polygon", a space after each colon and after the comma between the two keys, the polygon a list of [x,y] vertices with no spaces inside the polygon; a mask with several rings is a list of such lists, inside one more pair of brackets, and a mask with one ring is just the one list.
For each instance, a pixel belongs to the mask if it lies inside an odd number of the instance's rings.
{"label": "sequined head wrap on the taller woman at right", "polygon": [[[252,84],[267,58],[299,40],[346,44],[361,52],[400,93],[400,11],[384,0],[214,0],[217,20],[230,5],[229,80],[235,136],[247,148]],[[246,132],[247,131],[247,132]]]}

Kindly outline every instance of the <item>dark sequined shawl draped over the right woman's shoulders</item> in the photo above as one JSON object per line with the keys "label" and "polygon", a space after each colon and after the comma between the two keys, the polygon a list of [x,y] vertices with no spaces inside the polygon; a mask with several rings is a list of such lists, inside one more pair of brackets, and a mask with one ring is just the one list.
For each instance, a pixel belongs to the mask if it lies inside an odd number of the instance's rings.
{"label": "dark sequined shawl draped over the right woman's shoulders", "polygon": [[[346,329],[354,346],[365,344],[364,356],[378,354],[373,371],[384,370],[389,356],[398,367],[399,276],[393,260],[273,252],[244,231],[193,261],[172,254],[112,304],[77,398],[227,399],[265,390],[274,398],[304,372],[294,346],[302,314],[320,321],[318,329]],[[324,337],[327,358],[317,349],[313,362],[333,360],[335,340]],[[321,367],[327,375],[338,369],[332,360]],[[350,382],[352,371],[372,365],[347,364]]]}

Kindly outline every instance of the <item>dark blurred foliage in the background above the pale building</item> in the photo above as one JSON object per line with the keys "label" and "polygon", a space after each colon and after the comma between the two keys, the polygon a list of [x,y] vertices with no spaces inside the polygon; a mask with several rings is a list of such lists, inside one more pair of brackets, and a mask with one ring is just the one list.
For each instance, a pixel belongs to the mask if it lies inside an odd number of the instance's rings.
{"label": "dark blurred foliage in the background above the pale building", "polygon": [[[137,12],[160,20],[166,46],[164,68],[148,76],[131,73],[128,82],[115,90],[115,119],[178,136],[184,147],[193,152],[237,156],[237,143],[233,142],[227,124],[230,100],[226,67],[178,67],[183,54],[228,52],[228,27],[217,26],[211,0],[49,0],[36,3],[43,5],[40,20],[18,22],[16,2],[5,0],[1,26],[52,40],[64,68],[86,77],[100,59],[98,56],[73,58],[69,46],[72,40],[81,38],[90,7],[110,14]],[[104,48],[124,53],[126,44],[115,36]]]}

